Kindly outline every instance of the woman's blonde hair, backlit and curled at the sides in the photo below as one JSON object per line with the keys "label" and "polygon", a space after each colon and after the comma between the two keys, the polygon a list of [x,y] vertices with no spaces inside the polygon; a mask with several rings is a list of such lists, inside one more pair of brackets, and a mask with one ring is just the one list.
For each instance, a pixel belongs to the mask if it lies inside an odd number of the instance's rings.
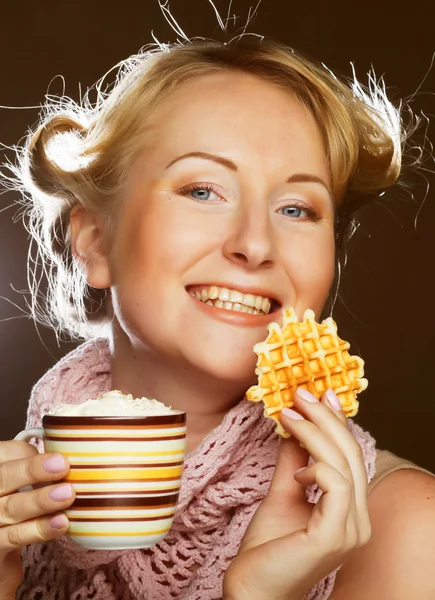
{"label": "woman's blonde hair, backlit and curled at the sides", "polygon": [[[10,167],[33,239],[32,314],[58,332],[107,335],[110,293],[86,283],[71,251],[70,213],[77,204],[98,211],[110,231],[129,166],[146,143],[148,117],[188,79],[238,70],[288,90],[308,107],[325,139],[339,243],[355,211],[399,177],[405,132],[399,110],[374,79],[366,90],[356,80],[349,85],[292,49],[258,38],[153,48],[118,67],[111,86],[105,87],[106,77],[96,84],[94,102],[89,93],[80,103],[48,100]],[[48,281],[43,301],[42,275]]]}

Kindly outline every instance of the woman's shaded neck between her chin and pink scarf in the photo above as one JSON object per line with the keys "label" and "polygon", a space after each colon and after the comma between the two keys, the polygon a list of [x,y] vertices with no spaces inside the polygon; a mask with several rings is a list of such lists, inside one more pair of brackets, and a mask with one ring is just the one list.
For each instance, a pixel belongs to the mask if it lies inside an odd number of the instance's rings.
{"label": "woman's shaded neck between her chin and pink scarf", "polygon": [[213,379],[190,365],[162,361],[148,348],[134,347],[121,334],[111,343],[112,389],[135,398],[155,398],[188,416],[187,452],[215,429],[243,397],[244,382]]}

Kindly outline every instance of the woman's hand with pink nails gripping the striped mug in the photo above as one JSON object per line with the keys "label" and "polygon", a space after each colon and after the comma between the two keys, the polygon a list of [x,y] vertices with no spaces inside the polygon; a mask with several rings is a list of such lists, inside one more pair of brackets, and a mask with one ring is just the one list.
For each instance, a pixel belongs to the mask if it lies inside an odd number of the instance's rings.
{"label": "woman's hand with pink nails gripping the striped mug", "polygon": [[[66,533],[68,519],[60,511],[72,504],[74,490],[52,482],[68,471],[61,454],[39,454],[22,441],[0,442],[0,598],[15,598],[12,588],[22,578],[17,558],[23,546]],[[29,485],[38,488],[19,492]]]}

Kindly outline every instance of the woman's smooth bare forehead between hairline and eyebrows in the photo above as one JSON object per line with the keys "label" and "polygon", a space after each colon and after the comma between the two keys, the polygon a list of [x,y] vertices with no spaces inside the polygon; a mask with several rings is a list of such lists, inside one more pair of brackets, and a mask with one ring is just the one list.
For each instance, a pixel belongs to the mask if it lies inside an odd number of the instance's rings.
{"label": "woman's smooth bare forehead between hairline and eyebrows", "polygon": [[236,161],[260,154],[325,167],[324,140],[308,108],[290,90],[243,72],[181,84],[154,112],[151,131],[154,147],[174,154],[220,152]]}

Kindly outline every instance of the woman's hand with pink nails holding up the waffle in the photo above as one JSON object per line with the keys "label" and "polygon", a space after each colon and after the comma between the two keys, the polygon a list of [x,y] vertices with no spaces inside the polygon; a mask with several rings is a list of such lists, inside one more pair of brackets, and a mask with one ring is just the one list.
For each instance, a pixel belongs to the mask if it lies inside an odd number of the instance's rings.
{"label": "woman's hand with pink nails holding up the waffle", "polygon": [[[297,412],[283,411],[292,437],[281,441],[269,493],[227,570],[225,600],[301,600],[370,539],[362,452],[339,406],[332,390],[319,402],[299,389]],[[305,499],[314,483],[323,491],[315,505]]]}

